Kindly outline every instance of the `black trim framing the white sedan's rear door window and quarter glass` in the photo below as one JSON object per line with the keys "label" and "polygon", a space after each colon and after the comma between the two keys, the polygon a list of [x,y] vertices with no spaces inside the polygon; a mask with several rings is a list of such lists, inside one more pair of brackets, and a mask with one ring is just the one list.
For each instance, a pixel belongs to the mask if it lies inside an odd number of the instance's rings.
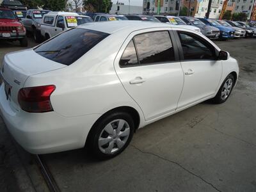
{"label": "black trim framing the white sedan's rear door window and quarter glass", "polygon": [[[139,58],[139,55],[138,55],[137,45],[136,45],[136,42],[134,40],[134,37],[137,36],[137,35],[145,34],[145,33],[155,33],[155,32],[163,32],[163,31],[167,31],[169,33],[170,40],[171,40],[172,45],[173,45],[174,60],[173,61],[164,61],[164,62],[154,62],[154,63],[143,63],[143,64],[141,64],[140,63],[140,58]],[[134,47],[135,47],[136,56],[137,56],[137,60],[138,60],[138,65],[125,65],[125,66],[121,66],[120,65],[120,61],[122,59],[122,56],[123,56],[127,46],[131,42],[131,40],[133,41],[133,44],[134,44]],[[128,44],[125,46],[124,51],[122,52],[120,60],[118,61],[118,65],[119,65],[120,68],[127,68],[127,67],[142,67],[142,66],[147,66],[147,65],[161,65],[161,64],[166,64],[166,63],[177,63],[177,62],[180,62],[180,58],[179,58],[178,47],[177,47],[177,44],[176,44],[176,41],[175,41],[175,36],[173,35],[173,31],[172,30],[157,30],[157,31],[147,31],[147,32],[143,32],[143,33],[136,34],[136,35],[132,36],[132,38],[129,40]]]}

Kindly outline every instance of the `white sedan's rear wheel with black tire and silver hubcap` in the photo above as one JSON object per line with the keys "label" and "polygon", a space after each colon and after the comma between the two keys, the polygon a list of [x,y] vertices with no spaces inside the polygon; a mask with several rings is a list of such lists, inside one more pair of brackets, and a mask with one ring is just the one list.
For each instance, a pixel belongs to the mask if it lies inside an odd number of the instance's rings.
{"label": "white sedan's rear wheel with black tire and silver hubcap", "polygon": [[93,125],[86,147],[98,159],[109,159],[125,150],[132,140],[133,133],[134,122],[131,115],[114,112]]}

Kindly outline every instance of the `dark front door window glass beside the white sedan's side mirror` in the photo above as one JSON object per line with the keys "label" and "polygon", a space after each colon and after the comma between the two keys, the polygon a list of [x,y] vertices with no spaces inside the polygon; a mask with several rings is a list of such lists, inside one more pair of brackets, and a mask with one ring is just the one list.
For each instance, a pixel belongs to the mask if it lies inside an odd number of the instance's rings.
{"label": "dark front door window glass beside the white sedan's side mirror", "polygon": [[179,32],[180,43],[182,45],[184,60],[215,60],[214,47],[202,38],[190,34]]}

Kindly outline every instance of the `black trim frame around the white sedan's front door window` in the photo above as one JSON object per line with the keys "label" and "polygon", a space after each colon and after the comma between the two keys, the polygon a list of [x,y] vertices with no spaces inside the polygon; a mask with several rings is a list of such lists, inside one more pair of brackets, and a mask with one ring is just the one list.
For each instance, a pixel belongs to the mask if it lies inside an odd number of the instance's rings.
{"label": "black trim frame around the white sedan's front door window", "polygon": [[[211,59],[211,60],[184,60],[184,52],[183,52],[183,49],[182,49],[182,45],[181,45],[181,42],[180,42],[180,37],[179,37],[179,34],[178,33],[184,33],[184,34],[187,34],[187,35],[192,35],[192,36],[196,36],[196,38],[199,38],[200,40],[203,40],[204,42],[206,42],[208,45],[210,45],[214,52],[215,52],[215,58],[214,59]],[[177,40],[177,47],[178,47],[178,50],[179,50],[179,57],[180,57],[180,62],[182,61],[218,61],[218,54],[219,54],[219,51],[216,49],[216,47],[214,47],[210,42],[208,42],[207,40],[205,40],[204,38],[202,38],[201,36],[198,36],[194,33],[189,33],[187,31],[173,31],[174,35],[175,35],[175,38]]]}

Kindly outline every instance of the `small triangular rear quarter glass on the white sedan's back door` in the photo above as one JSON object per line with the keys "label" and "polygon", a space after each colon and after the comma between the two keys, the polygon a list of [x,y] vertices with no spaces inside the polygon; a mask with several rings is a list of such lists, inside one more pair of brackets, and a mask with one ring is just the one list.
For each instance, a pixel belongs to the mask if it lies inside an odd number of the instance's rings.
{"label": "small triangular rear quarter glass on the white sedan's back door", "polygon": [[138,58],[137,58],[136,49],[134,47],[133,40],[131,40],[131,42],[129,42],[129,44],[125,48],[125,51],[122,55],[119,65],[120,67],[138,65]]}

